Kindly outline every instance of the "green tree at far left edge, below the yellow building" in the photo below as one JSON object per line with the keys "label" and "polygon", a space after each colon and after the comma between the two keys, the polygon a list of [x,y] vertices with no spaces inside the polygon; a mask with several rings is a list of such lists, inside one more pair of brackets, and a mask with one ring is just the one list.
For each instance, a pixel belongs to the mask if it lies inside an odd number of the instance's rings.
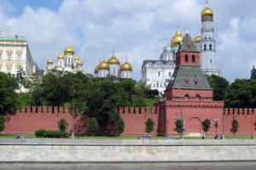
{"label": "green tree at far left edge, below the yellow building", "polygon": [[10,76],[0,72],[0,115],[14,114],[17,109],[17,81]]}

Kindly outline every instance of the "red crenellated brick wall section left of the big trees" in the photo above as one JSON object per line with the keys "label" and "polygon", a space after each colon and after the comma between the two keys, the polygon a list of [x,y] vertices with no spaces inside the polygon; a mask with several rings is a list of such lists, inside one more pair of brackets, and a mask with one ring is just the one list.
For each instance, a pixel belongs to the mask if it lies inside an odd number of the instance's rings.
{"label": "red crenellated brick wall section left of the big trees", "polygon": [[34,134],[38,129],[58,130],[57,124],[62,118],[68,122],[68,131],[71,131],[74,119],[67,108],[28,106],[17,111],[14,116],[5,118],[3,133]]}

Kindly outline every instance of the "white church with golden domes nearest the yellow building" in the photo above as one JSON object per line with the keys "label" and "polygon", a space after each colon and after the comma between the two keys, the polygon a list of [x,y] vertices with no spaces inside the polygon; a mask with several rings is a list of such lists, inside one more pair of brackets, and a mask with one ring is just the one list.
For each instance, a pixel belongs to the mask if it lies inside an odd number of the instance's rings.
{"label": "white church with golden domes nearest the yellow building", "polygon": [[54,64],[52,59],[47,59],[45,68],[45,74],[49,71],[56,70],[60,72],[82,72],[83,71],[83,62],[81,58],[75,56],[74,48],[68,46],[64,49],[63,53],[60,53],[57,56],[57,63]]}

